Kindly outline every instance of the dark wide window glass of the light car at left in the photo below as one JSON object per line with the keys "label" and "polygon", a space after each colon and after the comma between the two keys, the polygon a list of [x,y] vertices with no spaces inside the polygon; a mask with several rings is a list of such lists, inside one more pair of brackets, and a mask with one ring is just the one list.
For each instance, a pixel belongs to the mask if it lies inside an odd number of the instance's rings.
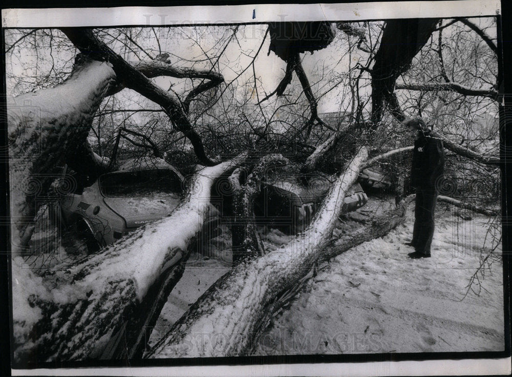
{"label": "dark wide window glass of the light car at left", "polygon": [[180,181],[172,170],[152,169],[116,172],[100,177],[99,187],[108,198],[144,197],[155,193],[176,193]]}

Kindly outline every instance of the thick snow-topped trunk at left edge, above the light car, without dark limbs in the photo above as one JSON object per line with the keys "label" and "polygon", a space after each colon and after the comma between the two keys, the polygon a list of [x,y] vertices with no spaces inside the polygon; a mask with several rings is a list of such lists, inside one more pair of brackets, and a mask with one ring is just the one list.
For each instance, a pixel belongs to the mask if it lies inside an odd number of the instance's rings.
{"label": "thick snow-topped trunk at left edge, above the light car, without dark limbs", "polygon": [[[73,73],[52,89],[8,101],[12,252],[30,241],[37,203],[57,177],[56,168],[79,154],[82,167],[97,166],[87,144],[94,113],[115,80],[106,62],[78,56]],[[91,168],[93,169],[93,168]]]}

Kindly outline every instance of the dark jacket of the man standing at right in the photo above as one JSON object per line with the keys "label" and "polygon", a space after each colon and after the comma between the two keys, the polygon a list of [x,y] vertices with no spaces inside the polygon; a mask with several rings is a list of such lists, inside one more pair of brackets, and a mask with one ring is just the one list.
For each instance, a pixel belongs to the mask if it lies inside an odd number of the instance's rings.
{"label": "dark jacket of the man standing at right", "polygon": [[434,132],[423,132],[414,141],[411,185],[433,189],[444,172],[443,142]]}

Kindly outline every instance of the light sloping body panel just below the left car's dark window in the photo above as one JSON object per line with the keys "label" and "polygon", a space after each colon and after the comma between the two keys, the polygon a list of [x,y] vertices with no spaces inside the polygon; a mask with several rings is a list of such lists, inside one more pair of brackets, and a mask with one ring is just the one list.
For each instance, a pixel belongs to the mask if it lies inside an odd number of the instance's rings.
{"label": "light sloping body panel just below the left car's dark window", "polygon": [[180,202],[178,194],[156,193],[152,196],[103,198],[112,211],[124,218],[129,228],[169,215]]}

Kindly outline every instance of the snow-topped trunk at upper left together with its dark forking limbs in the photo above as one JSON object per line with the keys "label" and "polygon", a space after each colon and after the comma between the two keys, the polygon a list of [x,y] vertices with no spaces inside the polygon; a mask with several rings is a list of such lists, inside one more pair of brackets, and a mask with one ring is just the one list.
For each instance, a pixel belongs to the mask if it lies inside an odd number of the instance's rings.
{"label": "snow-topped trunk at upper left together with its dark forking limbs", "polygon": [[[191,127],[186,112],[190,101],[223,81],[214,71],[175,68],[165,55],[140,61],[135,67],[99,41],[90,29],[63,29],[83,53],[75,58],[71,75],[54,88],[19,95],[7,101],[11,192],[12,252],[26,249],[33,232],[33,219],[52,181],[56,167],[68,164],[83,175],[97,177],[112,168],[92,151],[87,137],[103,98],[130,87],[155,100],[175,127],[194,145],[198,159],[214,165],[205,154],[200,136]],[[105,61],[106,60],[106,61]],[[202,78],[188,93],[182,108],[179,99],[155,87],[147,77]]]}

